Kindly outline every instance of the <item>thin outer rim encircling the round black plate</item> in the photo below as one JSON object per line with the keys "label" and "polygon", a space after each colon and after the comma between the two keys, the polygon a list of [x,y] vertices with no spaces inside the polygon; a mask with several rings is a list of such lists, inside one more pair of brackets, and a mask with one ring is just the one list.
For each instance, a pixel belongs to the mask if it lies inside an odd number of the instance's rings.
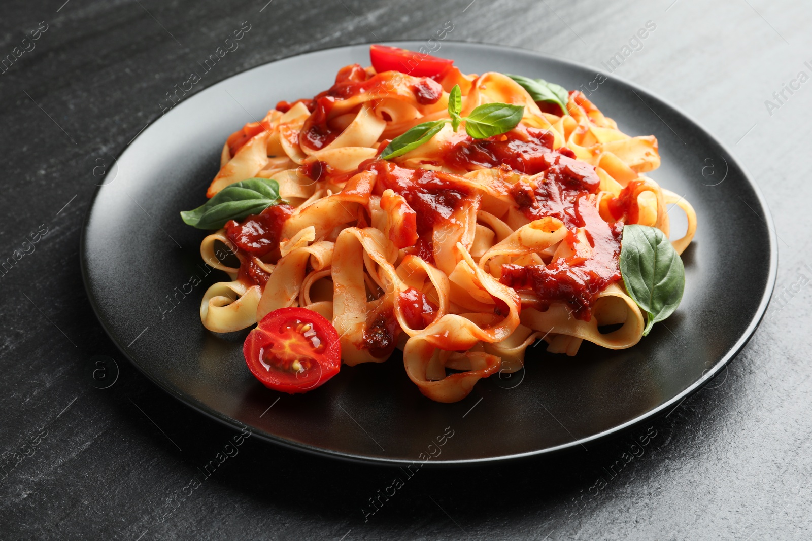
{"label": "thin outer rim encircling the round black plate", "polygon": [[[187,100],[175,105],[175,107],[184,107],[184,105],[188,105],[189,101],[192,101],[194,97],[197,97],[199,94],[203,92],[207,92],[212,90],[219,85],[227,82],[229,79],[236,77],[237,75],[243,75],[248,73],[249,71],[254,71],[261,69],[263,67],[268,66],[269,64],[273,64],[275,62],[281,62],[283,60],[288,60],[291,58],[299,58],[299,57],[307,57],[311,54],[319,54],[325,51],[333,50],[333,49],[352,49],[356,47],[362,47],[369,45],[374,45],[379,43],[379,41],[369,41],[369,42],[362,42],[362,43],[353,43],[353,44],[344,44],[344,45],[334,45],[332,47],[325,47],[321,49],[313,49],[304,51],[302,53],[292,54],[290,56],[285,56],[282,58],[275,58],[270,62],[264,62],[254,67],[249,67],[244,71],[239,71],[237,73],[227,75],[222,79],[219,79],[214,84],[211,84],[208,87],[201,88],[200,92],[196,92],[192,96],[190,96]],[[388,41],[387,43],[395,46],[403,46],[408,47],[410,45],[422,45],[425,43],[425,40],[395,40],[395,41]],[[542,58],[548,62],[554,62],[563,64],[568,67],[574,67],[579,70],[584,68],[587,69],[595,69],[590,67],[586,64],[580,62],[574,62],[567,58],[556,58],[551,56],[550,54],[541,53],[539,51],[533,49],[526,49],[524,47],[517,47],[512,45],[501,45],[495,43],[488,43],[484,41],[458,41],[458,40],[443,40],[443,43],[449,43],[454,45],[462,45],[463,47],[471,47],[473,49],[498,49],[508,54],[523,54],[528,57],[534,58]],[[533,451],[527,451],[525,453],[513,453],[508,455],[500,455],[498,457],[485,457],[485,458],[467,458],[467,459],[460,459],[460,460],[430,460],[427,462],[423,462],[422,466],[430,466],[432,469],[444,468],[444,467],[453,467],[453,466],[486,466],[495,463],[504,463],[504,462],[516,462],[522,459],[528,459],[531,457],[545,457],[551,456],[555,453],[561,453],[568,449],[575,448],[579,445],[583,446],[587,443],[596,443],[599,440],[605,440],[610,436],[620,436],[623,432],[628,432],[631,428],[637,426],[638,424],[643,423],[646,420],[653,420],[659,418],[663,414],[665,410],[668,410],[672,405],[684,401],[689,396],[693,395],[693,393],[698,392],[698,390],[702,389],[707,383],[709,383],[722,368],[727,367],[729,363],[733,359],[736,358],[738,354],[741,353],[741,350],[749,342],[750,338],[753,337],[758,325],[761,324],[764,316],[767,314],[767,306],[770,303],[770,299],[772,296],[773,291],[775,290],[775,282],[777,279],[778,274],[778,242],[777,242],[777,233],[775,232],[775,221],[773,220],[772,213],[770,212],[770,207],[767,204],[767,199],[764,197],[764,194],[761,191],[761,187],[758,186],[758,183],[755,182],[754,178],[751,174],[749,174],[749,170],[741,163],[741,161],[736,157],[736,155],[728,148],[728,145],[724,144],[722,140],[715,137],[711,133],[711,131],[707,130],[706,127],[701,123],[698,122],[695,118],[691,115],[685,113],[684,110],[680,109],[680,107],[674,105],[671,101],[660,97],[658,94],[647,90],[646,88],[642,88],[641,86],[637,85],[629,81],[628,79],[624,79],[623,77],[618,77],[617,75],[611,74],[606,75],[603,71],[599,71],[604,77],[607,79],[611,79],[616,83],[620,83],[621,86],[626,86],[633,90],[633,92],[642,92],[643,95],[649,97],[650,99],[659,102],[660,105],[665,105],[668,109],[672,109],[676,111],[677,114],[680,114],[683,118],[691,122],[695,127],[697,127],[701,132],[702,135],[705,135],[707,138],[713,140],[715,144],[719,145],[724,152],[727,152],[728,156],[732,158],[732,161],[736,164],[736,166],[741,170],[745,180],[748,182],[749,186],[752,187],[756,199],[758,200],[758,204],[761,207],[761,211],[763,214],[763,221],[767,226],[768,231],[768,238],[769,238],[769,255],[770,255],[770,268],[767,273],[767,284],[762,292],[762,298],[758,303],[758,308],[756,309],[754,316],[750,319],[747,328],[745,331],[741,333],[741,336],[738,338],[735,344],[728,350],[728,353],[725,354],[719,361],[715,364],[714,367],[711,367],[710,370],[704,372],[701,378],[694,381],[693,384],[690,384],[686,389],[683,389],[680,393],[676,394],[676,396],[672,397],[670,400],[664,402],[660,406],[654,408],[653,410],[649,410],[644,414],[638,415],[634,419],[629,419],[627,422],[622,423],[620,425],[615,425],[603,432],[598,432],[596,434],[592,434],[590,436],[585,436],[578,440],[572,440],[565,444],[555,445],[553,447],[546,447],[544,449],[535,449]],[[173,108],[174,109],[174,108]],[[168,114],[171,114],[168,113]],[[655,113],[656,114],[656,113]],[[127,148],[130,147],[132,143],[138,140],[140,137],[145,135],[145,132],[148,131],[149,127],[152,127],[155,122],[158,122],[161,118],[166,116],[166,114],[156,115],[149,120],[149,123],[141,129],[141,131],[124,147],[116,154],[114,163],[118,163],[119,158],[123,156],[125,152],[127,152]],[[658,115],[659,116],[659,115]],[[664,121],[663,121],[664,123]],[[198,401],[194,397],[190,397],[184,393],[180,393],[177,389],[173,389],[170,385],[164,384],[162,381],[158,380],[156,376],[153,376],[149,371],[145,370],[144,367],[141,367],[140,363],[135,359],[135,357],[130,354],[127,349],[119,343],[118,340],[114,338],[114,333],[110,328],[108,322],[105,320],[104,317],[101,315],[100,307],[97,303],[97,298],[93,295],[93,286],[89,277],[89,268],[88,268],[88,261],[87,261],[87,250],[88,250],[88,243],[87,243],[87,236],[89,231],[89,222],[90,217],[93,214],[93,209],[96,206],[98,195],[101,193],[102,188],[105,187],[106,184],[97,185],[96,189],[93,191],[93,196],[90,200],[90,204],[88,208],[85,210],[84,217],[82,220],[81,225],[81,236],[80,236],[80,243],[79,243],[79,260],[80,260],[80,271],[82,275],[82,283],[84,286],[85,294],[89,300],[90,306],[93,308],[93,314],[96,316],[97,321],[99,324],[102,325],[106,335],[110,338],[110,341],[114,343],[116,348],[123,354],[124,358],[127,359],[141,374],[147,377],[148,380],[152,381],[153,384],[156,384],[159,389],[162,389],[166,392],[169,396],[174,397],[176,400],[180,401],[186,406],[192,408],[192,410],[196,410],[198,413],[205,414],[205,416],[209,417],[209,419],[214,419],[219,423],[230,427],[232,429],[240,429],[244,428],[241,426],[242,423],[237,419],[234,419],[226,414],[222,414],[222,412],[218,410],[214,410],[201,401]],[[756,213],[757,217],[758,213]],[[679,402],[679,403],[678,403]],[[676,409],[676,408],[675,408]],[[270,442],[272,444],[281,445],[287,449],[293,449],[296,451],[304,451],[305,453],[313,454],[318,457],[329,457],[331,459],[337,459],[342,462],[353,462],[356,464],[363,464],[365,466],[406,466],[408,464],[412,464],[414,461],[408,461],[404,459],[398,458],[387,458],[387,457],[374,457],[369,455],[361,455],[356,453],[347,453],[343,451],[336,451],[334,449],[326,449],[322,447],[316,447],[311,444],[306,444],[303,442],[297,442],[293,440],[287,440],[280,436],[275,436],[274,434],[270,434],[268,432],[261,431],[259,429],[254,430],[253,427],[250,428],[252,436],[256,435],[259,439]],[[418,460],[417,457],[414,460]]]}

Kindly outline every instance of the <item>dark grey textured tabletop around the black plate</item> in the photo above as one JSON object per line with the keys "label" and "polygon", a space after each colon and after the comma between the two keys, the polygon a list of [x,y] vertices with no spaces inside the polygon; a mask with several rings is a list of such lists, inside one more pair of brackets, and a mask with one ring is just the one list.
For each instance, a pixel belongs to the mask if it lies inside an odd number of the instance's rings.
{"label": "dark grey textured tabletop around the black plate", "polygon": [[[0,539],[812,538],[812,6],[266,2],[3,2]],[[428,39],[450,21],[448,39],[535,49],[659,93],[767,197],[780,244],[767,316],[666,416],[555,457],[421,470],[375,513],[370,498],[403,471],[248,438],[204,473],[235,432],[123,359],[84,294],[79,241],[110,157],[244,21],[239,49],[192,92],[304,51]],[[118,372],[113,384],[99,368]]]}

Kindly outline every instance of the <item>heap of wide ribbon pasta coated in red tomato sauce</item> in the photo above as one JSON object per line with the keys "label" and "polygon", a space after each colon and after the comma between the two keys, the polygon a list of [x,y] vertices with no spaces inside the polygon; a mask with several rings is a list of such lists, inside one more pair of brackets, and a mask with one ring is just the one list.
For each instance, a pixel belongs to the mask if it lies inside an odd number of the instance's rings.
{"label": "heap of wide ribbon pasta coated in red tomato sauce", "polygon": [[[460,118],[509,104],[523,107],[520,122],[480,139],[455,129],[455,87]],[[335,327],[344,364],[400,349],[409,379],[442,402],[519,370],[538,339],[568,355],[583,341],[634,346],[646,318],[621,278],[623,227],[667,236],[676,204],[688,218],[672,241],[681,253],[696,214],[647,176],[660,163],[654,136],[619,131],[581,92],[565,106],[534,101],[501,73],[357,64],[313,100],[280,102],[228,138],[207,192],[273,179],[284,202],[203,240],[203,259],[230,277],[203,297],[205,328],[228,333],[306,308]],[[391,140],[434,121],[442,127],[430,140],[381,158]],[[219,243],[236,262],[218,260]]]}

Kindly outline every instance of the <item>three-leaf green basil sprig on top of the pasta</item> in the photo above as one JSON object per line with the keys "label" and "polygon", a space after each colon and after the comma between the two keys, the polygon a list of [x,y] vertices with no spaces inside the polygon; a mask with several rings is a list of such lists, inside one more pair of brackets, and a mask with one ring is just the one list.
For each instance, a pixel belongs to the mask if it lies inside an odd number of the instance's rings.
{"label": "three-leaf green basil sprig on top of the pasta", "polygon": [[508,103],[486,103],[471,111],[467,117],[460,117],[462,112],[462,92],[460,85],[455,84],[448,94],[448,116],[432,122],[417,124],[403,135],[395,137],[381,152],[383,160],[402,156],[406,152],[427,143],[438,131],[443,129],[447,122],[451,122],[454,131],[465,121],[465,132],[474,139],[486,139],[493,135],[501,135],[511,131],[521,121],[525,113],[524,105],[510,105]]}

